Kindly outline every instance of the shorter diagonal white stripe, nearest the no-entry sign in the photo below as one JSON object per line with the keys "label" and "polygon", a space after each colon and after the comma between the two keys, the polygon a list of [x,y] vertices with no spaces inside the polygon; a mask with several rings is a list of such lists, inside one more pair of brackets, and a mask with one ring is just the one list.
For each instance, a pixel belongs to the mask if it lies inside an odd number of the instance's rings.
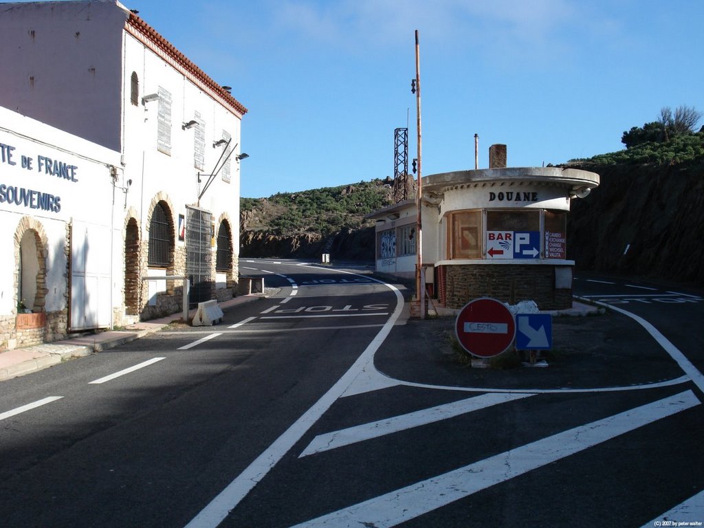
{"label": "shorter diagonal white stripe, nearest the no-entry sign", "polygon": [[348,427],[340,431],[332,433],[319,434],[315,436],[313,441],[308,444],[303,450],[303,453],[298,455],[298,458],[322,453],[342,446],[349,446],[357,442],[385,436],[399,431],[405,431],[413,427],[420,427],[433,422],[447,420],[455,416],[472,413],[474,410],[484,409],[491,406],[496,406],[500,403],[508,401],[520,400],[529,398],[534,394],[483,394],[482,396],[474,396],[460,401],[453,401],[441,406],[435,406],[428,409],[418,410],[415,413],[408,413],[401,416],[394,416],[386,420],[378,420],[356,427]]}

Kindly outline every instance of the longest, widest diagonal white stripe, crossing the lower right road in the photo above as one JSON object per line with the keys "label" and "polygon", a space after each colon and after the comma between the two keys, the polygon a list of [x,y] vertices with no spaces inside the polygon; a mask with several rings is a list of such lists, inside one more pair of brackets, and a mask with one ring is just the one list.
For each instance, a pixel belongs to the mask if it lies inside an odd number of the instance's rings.
{"label": "longest, widest diagonal white stripe, crossing the lower right road", "polygon": [[483,489],[518,477],[700,404],[692,391],[574,427],[477,463],[432,477],[369,501],[323,515],[294,528],[373,526],[390,528]]}

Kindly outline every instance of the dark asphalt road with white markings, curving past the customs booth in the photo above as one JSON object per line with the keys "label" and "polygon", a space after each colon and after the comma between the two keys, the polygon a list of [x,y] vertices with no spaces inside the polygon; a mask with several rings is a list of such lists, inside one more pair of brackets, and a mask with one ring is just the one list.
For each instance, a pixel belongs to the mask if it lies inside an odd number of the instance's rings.
{"label": "dark asphalt road with white markings, curving past the customs booth", "polygon": [[698,294],[578,276],[612,309],[554,319],[550,366],[476,369],[403,287],[297,264],[241,261],[275,294],[217,327],[0,383],[0,417],[60,397],[0,420],[3,525],[704,522]]}

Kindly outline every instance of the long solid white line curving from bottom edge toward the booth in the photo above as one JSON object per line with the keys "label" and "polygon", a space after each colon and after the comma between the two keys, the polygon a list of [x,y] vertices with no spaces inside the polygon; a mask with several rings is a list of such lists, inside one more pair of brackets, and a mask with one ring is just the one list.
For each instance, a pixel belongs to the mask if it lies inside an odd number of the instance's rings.
{"label": "long solid white line curving from bottom edge toward the booth", "polygon": [[[340,271],[349,275],[356,275],[352,272]],[[389,320],[384,323],[384,326],[377,333],[374,339],[367,345],[365,351],[361,353],[355,363],[349,367],[347,372],[313,405],[304,413],[289,429],[277,438],[271,446],[269,446],[249,467],[247,467],[237,478],[223,489],[218,496],[213,498],[213,501],[203,508],[201,512],[187,524],[186,528],[215,528],[227,517],[230,510],[234,509],[239,502],[256,486],[261,479],[274,467],[281,458],[288,453],[291,448],[301,439],[303,434],[306,434],[308,429],[315,424],[320,417],[327,411],[347,387],[357,377],[359,372],[363,370],[367,363],[374,360],[374,354],[382,345],[384,339],[389,335],[391,329],[396,324],[396,320],[403,312],[403,296],[401,291],[398,291],[393,284],[386,284],[377,281],[379,284],[384,284],[385,287],[394,291],[396,295],[396,309],[391,314]]]}

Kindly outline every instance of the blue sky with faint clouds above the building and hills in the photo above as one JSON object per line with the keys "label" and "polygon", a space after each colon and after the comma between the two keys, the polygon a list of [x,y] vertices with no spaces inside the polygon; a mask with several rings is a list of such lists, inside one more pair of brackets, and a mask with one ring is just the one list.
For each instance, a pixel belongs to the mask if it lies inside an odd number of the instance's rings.
{"label": "blue sky with faint clouds above the building and hills", "polygon": [[[701,0],[122,0],[249,112],[241,196],[565,163],[624,148],[660,109],[704,111]],[[704,123],[700,123],[703,125]]]}

